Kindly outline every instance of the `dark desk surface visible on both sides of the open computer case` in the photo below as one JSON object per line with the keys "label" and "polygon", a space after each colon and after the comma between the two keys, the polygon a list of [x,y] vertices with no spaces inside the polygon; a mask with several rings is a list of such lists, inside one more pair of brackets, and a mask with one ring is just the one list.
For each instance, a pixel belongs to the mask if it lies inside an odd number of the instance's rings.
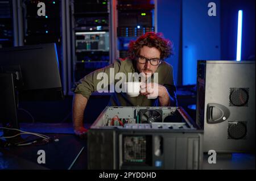
{"label": "dark desk surface visible on both sides of the open computer case", "polygon": [[[48,125],[49,127],[50,125]],[[59,125],[58,125],[59,127]],[[65,129],[68,125],[65,125]],[[31,124],[22,130],[33,131]],[[69,129],[68,129],[69,130]],[[55,130],[56,131],[56,130]],[[40,131],[37,131],[40,132]],[[48,132],[49,129],[48,129]],[[10,148],[0,148],[0,170],[1,169],[61,169],[68,170],[73,161],[72,170],[87,169],[87,148],[86,140],[75,136],[73,133],[46,133],[46,135],[57,138],[59,141],[49,142],[44,145],[30,145]],[[82,151],[81,149],[84,148]],[[46,163],[39,164],[38,150],[46,153]],[[79,154],[81,151],[81,154]],[[214,164],[208,163],[208,154],[204,154],[203,169],[254,169],[255,154],[224,154],[217,153],[217,160]]]}

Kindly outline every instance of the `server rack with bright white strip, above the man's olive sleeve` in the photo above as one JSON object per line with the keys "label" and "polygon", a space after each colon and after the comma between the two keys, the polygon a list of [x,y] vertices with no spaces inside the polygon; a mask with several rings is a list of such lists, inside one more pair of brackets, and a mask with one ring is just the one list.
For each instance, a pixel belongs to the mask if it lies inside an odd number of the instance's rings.
{"label": "server rack with bright white strip, above the man's olive sleeve", "polygon": [[109,0],[70,3],[70,28],[72,53],[68,61],[69,95],[73,84],[86,74],[109,65],[110,58],[110,9]]}

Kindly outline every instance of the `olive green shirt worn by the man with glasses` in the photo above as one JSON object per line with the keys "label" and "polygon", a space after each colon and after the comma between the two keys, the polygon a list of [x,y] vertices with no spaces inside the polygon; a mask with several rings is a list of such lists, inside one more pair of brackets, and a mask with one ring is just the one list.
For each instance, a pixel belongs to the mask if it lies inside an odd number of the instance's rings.
{"label": "olive green shirt worn by the man with glasses", "polygon": [[[129,58],[126,58],[125,60],[116,60],[113,64],[110,64],[105,68],[95,70],[86,75],[84,78],[80,79],[79,82],[75,83],[73,92],[75,92],[75,94],[81,94],[85,98],[89,99],[92,92],[97,91],[97,84],[102,81],[102,79],[97,79],[97,75],[99,73],[106,73],[108,77],[110,77],[110,68],[114,68],[114,75],[117,73],[125,73],[127,78],[128,73],[139,73],[136,65]],[[163,61],[158,66],[156,73],[158,73],[158,84],[165,86],[170,95],[171,106],[177,106],[176,87],[174,84],[172,66]],[[116,79],[113,83],[118,81],[119,79]],[[108,79],[109,84],[110,82],[110,79]],[[158,98],[148,99],[144,95],[131,97],[125,92],[113,92],[108,106],[159,106],[159,103]]]}

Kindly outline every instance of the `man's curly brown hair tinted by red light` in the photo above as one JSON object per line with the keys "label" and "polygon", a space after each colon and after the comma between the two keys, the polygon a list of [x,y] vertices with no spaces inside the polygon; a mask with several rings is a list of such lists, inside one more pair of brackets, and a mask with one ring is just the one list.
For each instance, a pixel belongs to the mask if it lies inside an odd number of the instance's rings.
{"label": "man's curly brown hair tinted by red light", "polygon": [[134,60],[143,46],[155,47],[160,51],[160,59],[170,57],[174,54],[173,44],[170,40],[164,39],[162,33],[147,32],[138,37],[136,41],[130,41],[128,56]]}

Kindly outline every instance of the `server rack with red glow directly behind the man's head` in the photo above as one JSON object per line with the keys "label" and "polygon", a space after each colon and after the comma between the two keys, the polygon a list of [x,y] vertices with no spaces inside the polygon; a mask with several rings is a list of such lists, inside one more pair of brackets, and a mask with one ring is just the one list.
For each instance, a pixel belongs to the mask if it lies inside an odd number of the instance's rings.
{"label": "server rack with red glow directly behind the man's head", "polygon": [[119,58],[127,57],[131,40],[146,32],[155,31],[156,1],[118,0],[117,1],[117,51]]}

